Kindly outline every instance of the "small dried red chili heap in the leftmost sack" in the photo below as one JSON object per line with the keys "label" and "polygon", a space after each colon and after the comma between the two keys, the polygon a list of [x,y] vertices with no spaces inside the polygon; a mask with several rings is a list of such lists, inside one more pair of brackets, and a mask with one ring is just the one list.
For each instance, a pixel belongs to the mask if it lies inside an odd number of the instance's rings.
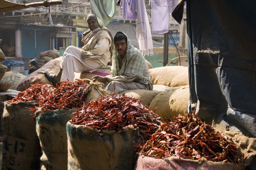
{"label": "small dried red chili heap in the leftmost sack", "polygon": [[28,89],[20,92],[12,100],[7,101],[7,103],[19,103],[28,101],[41,101],[46,98],[51,93],[51,85],[46,84],[33,84]]}

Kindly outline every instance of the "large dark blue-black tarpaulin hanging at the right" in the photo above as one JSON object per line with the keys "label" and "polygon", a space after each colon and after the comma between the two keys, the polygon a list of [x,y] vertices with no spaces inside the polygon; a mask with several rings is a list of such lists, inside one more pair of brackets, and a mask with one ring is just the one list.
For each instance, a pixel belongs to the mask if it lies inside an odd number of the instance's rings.
{"label": "large dark blue-black tarpaulin hanging at the right", "polygon": [[[178,22],[184,2],[172,13]],[[206,123],[256,137],[256,1],[186,3],[190,102]]]}

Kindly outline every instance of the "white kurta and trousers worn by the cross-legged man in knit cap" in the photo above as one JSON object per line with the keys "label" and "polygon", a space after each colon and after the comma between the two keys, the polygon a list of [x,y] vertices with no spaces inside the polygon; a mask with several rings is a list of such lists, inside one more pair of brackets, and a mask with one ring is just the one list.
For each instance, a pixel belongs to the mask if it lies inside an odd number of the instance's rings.
{"label": "white kurta and trousers worn by the cross-legged man in knit cap", "polygon": [[[109,42],[108,38],[100,39],[94,49],[90,50],[90,52],[100,58],[100,56],[109,49],[110,45],[111,42]],[[83,50],[81,48],[68,46],[63,54],[63,59],[60,64],[60,67],[63,69],[60,81],[73,81],[75,77],[74,72],[82,73],[84,71],[102,67],[97,57],[94,57],[93,59],[88,58],[86,60],[82,59],[82,52]]]}

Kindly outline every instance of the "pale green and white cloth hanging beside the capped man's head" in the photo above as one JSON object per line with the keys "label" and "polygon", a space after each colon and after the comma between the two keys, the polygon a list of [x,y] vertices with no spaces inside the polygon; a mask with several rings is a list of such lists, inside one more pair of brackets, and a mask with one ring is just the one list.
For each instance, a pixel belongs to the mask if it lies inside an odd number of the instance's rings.
{"label": "pale green and white cloth hanging beside the capped man's head", "polygon": [[105,27],[116,13],[115,0],[90,0],[91,10],[95,13],[100,28]]}

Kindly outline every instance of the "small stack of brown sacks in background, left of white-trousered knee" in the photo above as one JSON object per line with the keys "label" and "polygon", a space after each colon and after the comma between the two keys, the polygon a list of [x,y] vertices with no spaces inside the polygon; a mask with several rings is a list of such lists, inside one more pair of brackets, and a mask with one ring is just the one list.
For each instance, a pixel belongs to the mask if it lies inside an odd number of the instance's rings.
{"label": "small stack of brown sacks in background, left of white-trousered knee", "polygon": [[43,67],[47,62],[60,57],[60,53],[55,50],[43,51],[39,54],[38,65]]}

